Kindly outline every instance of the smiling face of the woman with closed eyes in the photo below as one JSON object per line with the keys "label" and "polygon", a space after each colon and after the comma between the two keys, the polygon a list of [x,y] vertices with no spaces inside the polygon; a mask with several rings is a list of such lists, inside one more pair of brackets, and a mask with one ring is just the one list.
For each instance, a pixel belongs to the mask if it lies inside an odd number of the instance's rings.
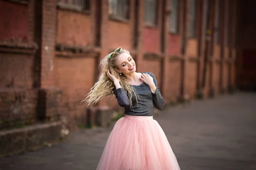
{"label": "smiling face of the woman with closed eyes", "polygon": [[127,53],[122,53],[118,56],[116,59],[116,66],[116,71],[122,74],[131,74],[136,71],[134,59]]}

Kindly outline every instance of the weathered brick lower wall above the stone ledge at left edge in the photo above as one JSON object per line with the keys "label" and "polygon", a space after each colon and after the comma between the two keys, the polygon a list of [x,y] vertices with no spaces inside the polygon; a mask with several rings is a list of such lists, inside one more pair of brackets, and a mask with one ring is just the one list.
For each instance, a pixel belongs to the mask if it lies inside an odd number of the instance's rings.
{"label": "weathered brick lower wall above the stone ledge at left edge", "polygon": [[0,88],[0,130],[35,123],[38,91]]}

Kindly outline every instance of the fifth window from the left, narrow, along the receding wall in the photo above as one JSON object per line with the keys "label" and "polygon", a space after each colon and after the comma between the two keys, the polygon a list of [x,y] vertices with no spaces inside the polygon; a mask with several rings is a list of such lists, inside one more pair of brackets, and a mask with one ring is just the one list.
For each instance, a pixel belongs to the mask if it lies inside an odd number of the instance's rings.
{"label": "fifth window from the left, narrow, along the receding wall", "polygon": [[195,37],[195,6],[196,0],[189,1],[189,37]]}

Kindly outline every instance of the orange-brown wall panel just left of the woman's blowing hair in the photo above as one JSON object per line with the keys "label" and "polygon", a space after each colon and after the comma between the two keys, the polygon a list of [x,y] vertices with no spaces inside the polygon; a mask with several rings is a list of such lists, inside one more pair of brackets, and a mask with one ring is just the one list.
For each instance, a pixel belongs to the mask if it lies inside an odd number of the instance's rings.
{"label": "orange-brown wall panel just left of the woman's blowing hair", "polygon": [[55,86],[63,90],[63,114],[84,116],[86,109],[80,104],[93,87],[94,58],[55,57]]}

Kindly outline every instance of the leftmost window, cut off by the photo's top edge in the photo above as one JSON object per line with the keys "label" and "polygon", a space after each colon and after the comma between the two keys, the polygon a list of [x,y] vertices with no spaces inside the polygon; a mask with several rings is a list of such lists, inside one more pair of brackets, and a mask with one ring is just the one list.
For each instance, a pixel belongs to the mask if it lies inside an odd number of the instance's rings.
{"label": "leftmost window, cut off by the photo's top edge", "polygon": [[77,10],[90,10],[90,0],[58,0],[58,2],[63,7]]}

